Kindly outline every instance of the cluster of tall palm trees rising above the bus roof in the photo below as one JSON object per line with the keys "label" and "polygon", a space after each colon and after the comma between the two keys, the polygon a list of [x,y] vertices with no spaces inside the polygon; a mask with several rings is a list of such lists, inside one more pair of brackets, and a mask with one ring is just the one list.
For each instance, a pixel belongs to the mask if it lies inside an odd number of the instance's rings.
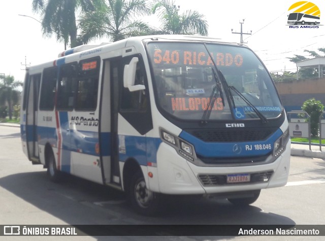
{"label": "cluster of tall palm trees rising above the bus roof", "polygon": [[[32,0],[32,10],[42,16],[45,37],[76,47],[108,37],[117,41],[152,34],[208,35],[204,15],[189,10],[179,14],[174,0]],[[158,14],[160,28],[141,17]]]}

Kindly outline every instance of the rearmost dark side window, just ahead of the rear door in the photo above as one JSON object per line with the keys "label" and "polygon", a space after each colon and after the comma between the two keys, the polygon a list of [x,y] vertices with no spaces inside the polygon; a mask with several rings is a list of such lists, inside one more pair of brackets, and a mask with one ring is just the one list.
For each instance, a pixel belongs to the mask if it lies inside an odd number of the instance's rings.
{"label": "rearmost dark side window, just ahead of the rear door", "polygon": [[53,110],[56,90],[57,67],[44,69],[41,86],[40,110]]}

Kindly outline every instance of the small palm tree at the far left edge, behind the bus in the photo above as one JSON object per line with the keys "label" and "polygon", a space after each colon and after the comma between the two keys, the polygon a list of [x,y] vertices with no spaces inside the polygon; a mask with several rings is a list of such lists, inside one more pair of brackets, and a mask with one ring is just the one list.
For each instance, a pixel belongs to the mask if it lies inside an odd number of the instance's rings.
{"label": "small palm tree at the far left edge, behind the bus", "polygon": [[8,104],[9,119],[12,119],[12,107],[17,104],[20,92],[17,87],[22,86],[21,81],[15,81],[14,76],[0,77],[0,105]]}

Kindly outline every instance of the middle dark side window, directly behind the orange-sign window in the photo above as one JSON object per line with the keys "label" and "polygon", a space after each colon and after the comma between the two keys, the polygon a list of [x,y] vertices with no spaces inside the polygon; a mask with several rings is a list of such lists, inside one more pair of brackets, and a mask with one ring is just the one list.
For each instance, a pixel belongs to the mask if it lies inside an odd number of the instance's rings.
{"label": "middle dark side window, directly behind the orange-sign window", "polygon": [[72,110],[77,81],[77,63],[62,65],[58,79],[56,108]]}

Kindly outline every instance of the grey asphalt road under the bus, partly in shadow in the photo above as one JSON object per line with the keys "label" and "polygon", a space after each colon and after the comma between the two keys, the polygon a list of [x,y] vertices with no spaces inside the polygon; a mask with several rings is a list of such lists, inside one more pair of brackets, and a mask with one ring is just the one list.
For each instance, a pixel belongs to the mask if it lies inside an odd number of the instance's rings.
{"label": "grey asphalt road under the bus, partly in shadow", "polygon": [[[166,200],[157,217],[135,214],[123,193],[77,177],[67,176],[55,184],[41,165],[31,165],[22,153],[19,128],[0,126],[0,224],[61,225],[325,225],[325,161],[291,157],[289,182],[285,187],[262,190],[251,206],[239,208],[226,200]],[[144,226],[147,228],[147,226]],[[64,240],[320,240],[321,237],[247,236],[120,236],[64,237]],[[115,232],[114,232],[115,231]],[[0,237],[1,240],[44,240],[44,237]],[[58,237],[46,237],[46,240]],[[62,239],[61,237],[59,239]]]}

